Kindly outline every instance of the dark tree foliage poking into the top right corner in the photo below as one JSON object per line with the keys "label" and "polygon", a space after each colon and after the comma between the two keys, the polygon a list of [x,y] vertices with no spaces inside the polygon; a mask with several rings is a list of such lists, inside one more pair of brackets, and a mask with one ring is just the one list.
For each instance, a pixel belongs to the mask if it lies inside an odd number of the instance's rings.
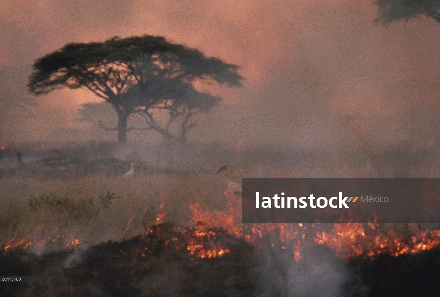
{"label": "dark tree foliage poking into the top right corner", "polygon": [[377,21],[389,23],[424,14],[440,23],[440,0],[376,0],[376,4],[379,8]]}

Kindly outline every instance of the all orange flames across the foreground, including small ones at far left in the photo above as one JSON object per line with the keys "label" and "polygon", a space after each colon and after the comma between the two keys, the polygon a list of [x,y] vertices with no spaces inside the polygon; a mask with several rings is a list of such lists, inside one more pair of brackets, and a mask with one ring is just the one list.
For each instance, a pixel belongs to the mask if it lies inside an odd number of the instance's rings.
{"label": "all orange flames across the foreground, including small ones at far left", "polygon": [[[208,192],[209,193],[209,192]],[[375,257],[387,253],[392,256],[417,253],[440,245],[440,230],[429,228],[427,224],[387,225],[379,223],[241,223],[241,197],[234,189],[227,188],[223,195],[227,198],[222,210],[209,211],[201,201],[189,205],[193,211],[194,228],[180,230],[190,256],[200,258],[220,257],[232,252],[227,238],[244,240],[255,248],[279,248],[290,252],[299,261],[301,249],[310,245],[325,245],[334,249],[343,259],[353,257]],[[177,241],[169,238],[161,224],[165,223],[165,202],[161,194],[161,204],[154,219],[154,226],[145,226],[144,232],[133,227],[135,216],[128,220],[127,228],[121,235],[149,236],[155,232],[158,240],[166,246]],[[47,227],[47,226],[46,226]],[[30,247],[77,247],[80,239],[69,235],[43,236],[45,226],[37,226],[32,234],[25,238],[11,239],[3,248]],[[46,228],[47,229],[47,228]],[[163,230],[161,230],[163,229]],[[155,233],[155,234],[156,234]],[[175,245],[173,245],[175,246]],[[176,248],[179,248],[176,247]],[[147,251],[147,249],[146,249]],[[151,252],[148,250],[148,252]],[[142,256],[145,256],[143,253]]]}

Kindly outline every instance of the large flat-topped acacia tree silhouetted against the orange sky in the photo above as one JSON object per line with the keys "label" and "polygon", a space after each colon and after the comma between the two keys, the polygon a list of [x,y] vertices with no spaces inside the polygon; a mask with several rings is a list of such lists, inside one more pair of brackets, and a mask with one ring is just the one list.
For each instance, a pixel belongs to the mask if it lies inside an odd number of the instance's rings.
{"label": "large flat-topped acacia tree silhouetted against the orange sky", "polygon": [[[143,110],[148,117],[166,99],[184,102],[165,96],[172,89],[161,86],[169,79],[180,86],[199,79],[228,87],[241,86],[242,79],[237,65],[149,35],[114,37],[103,43],[71,43],[37,59],[33,68],[28,87],[35,95],[65,87],[83,88],[109,102],[117,114],[120,143],[126,142],[130,114]],[[153,92],[155,89],[159,93]]]}

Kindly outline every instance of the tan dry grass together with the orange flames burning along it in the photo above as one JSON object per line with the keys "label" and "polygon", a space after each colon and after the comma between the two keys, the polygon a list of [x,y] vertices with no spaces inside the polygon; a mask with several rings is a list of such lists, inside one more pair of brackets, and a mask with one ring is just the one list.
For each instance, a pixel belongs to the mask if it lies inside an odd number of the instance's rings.
{"label": "tan dry grass together with the orange flames burning along it", "polygon": [[[144,235],[170,221],[222,228],[253,247],[276,247],[301,259],[305,246],[325,245],[343,259],[379,254],[398,256],[440,245],[439,226],[426,224],[241,224],[241,199],[205,172],[152,173],[127,180],[87,175],[71,179],[20,177],[0,180],[0,244],[41,253],[90,247]],[[47,194],[49,193],[49,194]],[[192,255],[216,257],[229,251],[212,246],[216,234],[200,231],[203,244]]]}

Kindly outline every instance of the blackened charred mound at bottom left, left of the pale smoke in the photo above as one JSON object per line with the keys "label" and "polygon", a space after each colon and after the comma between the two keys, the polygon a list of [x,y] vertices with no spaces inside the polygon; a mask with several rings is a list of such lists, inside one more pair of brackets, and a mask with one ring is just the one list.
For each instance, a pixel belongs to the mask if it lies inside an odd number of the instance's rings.
{"label": "blackened charred mound at bottom left, left of the pale smoke", "polygon": [[190,239],[199,241],[201,228],[163,223],[152,226],[145,236],[42,257],[23,249],[0,252],[0,272],[45,278],[44,283],[28,287],[1,284],[3,292],[11,296],[212,296],[213,292],[253,296],[257,283],[251,271],[255,266],[251,247],[222,230],[204,229],[219,234],[213,243],[231,252],[221,258],[191,255]]}

